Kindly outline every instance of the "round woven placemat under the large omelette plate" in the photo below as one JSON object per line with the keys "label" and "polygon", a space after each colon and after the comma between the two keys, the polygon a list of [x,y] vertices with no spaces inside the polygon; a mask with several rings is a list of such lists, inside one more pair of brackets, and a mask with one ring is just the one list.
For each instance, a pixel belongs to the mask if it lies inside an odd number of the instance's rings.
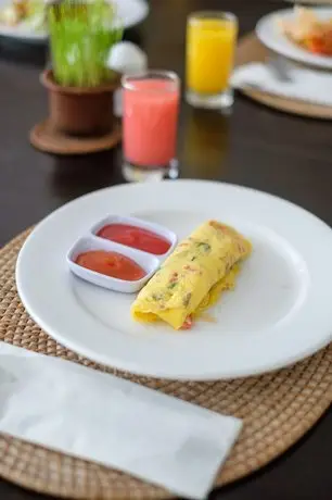
{"label": "round woven placemat under the large omelette plate", "polygon": [[[0,250],[0,339],[48,355],[108,371],[79,358],[42,332],[27,315],[15,287],[17,253],[28,236]],[[244,427],[216,486],[239,479],[277,458],[301,438],[332,401],[332,345],[293,367],[228,382],[183,383],[118,376],[243,418]],[[0,434],[0,475],[21,486],[85,500],[166,499],[169,493],[127,474]]]}

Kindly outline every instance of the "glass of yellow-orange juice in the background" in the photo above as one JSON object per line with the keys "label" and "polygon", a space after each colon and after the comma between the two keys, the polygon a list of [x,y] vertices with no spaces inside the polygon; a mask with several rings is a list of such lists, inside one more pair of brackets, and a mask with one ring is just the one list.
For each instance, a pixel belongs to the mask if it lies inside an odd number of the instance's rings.
{"label": "glass of yellow-orange juice in the background", "polygon": [[238,18],[230,12],[202,11],[188,17],[187,101],[196,108],[225,109],[233,103]]}

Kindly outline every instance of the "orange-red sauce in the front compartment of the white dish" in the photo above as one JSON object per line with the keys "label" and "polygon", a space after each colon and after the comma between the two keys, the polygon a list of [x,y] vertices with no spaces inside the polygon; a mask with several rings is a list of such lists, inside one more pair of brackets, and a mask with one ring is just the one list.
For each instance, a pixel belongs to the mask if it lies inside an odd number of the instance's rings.
{"label": "orange-red sauce in the front compartment of the white dish", "polygon": [[75,262],[87,270],[127,282],[137,282],[146,275],[139,264],[117,252],[91,250],[80,253]]}

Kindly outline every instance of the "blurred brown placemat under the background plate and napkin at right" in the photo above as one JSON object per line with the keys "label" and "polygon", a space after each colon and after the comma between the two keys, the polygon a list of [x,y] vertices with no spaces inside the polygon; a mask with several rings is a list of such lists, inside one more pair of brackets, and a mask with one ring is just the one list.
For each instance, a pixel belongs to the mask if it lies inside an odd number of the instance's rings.
{"label": "blurred brown placemat under the background plate and napkin at right", "polygon": [[[254,33],[251,33],[240,39],[237,52],[237,66],[251,62],[264,62],[270,55],[271,52],[269,49],[260,43]],[[242,88],[241,92],[254,101],[260,102],[261,104],[266,104],[279,111],[301,116],[309,116],[311,118],[332,120],[331,105],[312,104],[296,99],[273,96],[271,93],[253,90],[251,88]]]}

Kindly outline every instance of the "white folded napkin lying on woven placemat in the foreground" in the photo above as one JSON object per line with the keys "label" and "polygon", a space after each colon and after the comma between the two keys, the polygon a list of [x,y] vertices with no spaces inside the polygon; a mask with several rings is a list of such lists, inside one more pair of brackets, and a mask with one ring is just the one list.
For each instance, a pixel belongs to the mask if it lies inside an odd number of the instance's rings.
{"label": "white folded napkin lying on woven placemat in the foreground", "polygon": [[241,421],[0,342],[0,432],[204,499]]}

